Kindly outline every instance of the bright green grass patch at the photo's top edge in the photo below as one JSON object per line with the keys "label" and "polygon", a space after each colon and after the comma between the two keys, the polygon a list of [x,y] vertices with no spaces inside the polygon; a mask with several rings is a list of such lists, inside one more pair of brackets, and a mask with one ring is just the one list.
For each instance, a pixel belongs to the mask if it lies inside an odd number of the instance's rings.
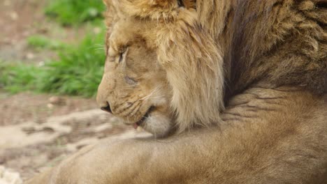
{"label": "bright green grass patch at the photo's top edge", "polygon": [[45,14],[67,26],[96,20],[104,9],[102,0],[56,0],[49,1]]}

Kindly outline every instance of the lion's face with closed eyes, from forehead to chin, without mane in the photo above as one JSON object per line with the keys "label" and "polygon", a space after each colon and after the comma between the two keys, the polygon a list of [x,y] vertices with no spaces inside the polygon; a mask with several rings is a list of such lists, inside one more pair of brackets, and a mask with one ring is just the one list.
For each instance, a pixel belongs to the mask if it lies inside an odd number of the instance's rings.
{"label": "lion's face with closed eyes, from forehead to chin, without mane", "polygon": [[142,27],[136,20],[119,20],[113,26],[97,101],[124,123],[163,137],[173,125],[170,89]]}

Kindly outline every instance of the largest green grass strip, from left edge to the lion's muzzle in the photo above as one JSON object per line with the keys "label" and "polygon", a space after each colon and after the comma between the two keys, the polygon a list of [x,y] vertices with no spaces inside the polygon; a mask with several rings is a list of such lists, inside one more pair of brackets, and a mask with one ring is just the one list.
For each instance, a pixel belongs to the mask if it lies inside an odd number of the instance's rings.
{"label": "largest green grass strip, from left edge to the lion's muzzle", "polygon": [[92,97],[101,81],[103,33],[86,36],[78,45],[66,45],[59,51],[59,60],[45,66],[24,63],[0,63],[0,87],[10,93],[36,91]]}

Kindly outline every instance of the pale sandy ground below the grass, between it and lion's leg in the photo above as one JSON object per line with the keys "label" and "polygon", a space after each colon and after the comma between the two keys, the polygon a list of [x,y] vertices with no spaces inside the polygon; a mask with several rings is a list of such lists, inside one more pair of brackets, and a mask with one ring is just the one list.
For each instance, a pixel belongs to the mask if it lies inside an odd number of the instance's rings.
{"label": "pale sandy ground below the grass, between it and lion's leg", "polygon": [[95,100],[31,93],[4,96],[0,100],[0,165],[23,180],[100,139],[142,133],[96,108]]}

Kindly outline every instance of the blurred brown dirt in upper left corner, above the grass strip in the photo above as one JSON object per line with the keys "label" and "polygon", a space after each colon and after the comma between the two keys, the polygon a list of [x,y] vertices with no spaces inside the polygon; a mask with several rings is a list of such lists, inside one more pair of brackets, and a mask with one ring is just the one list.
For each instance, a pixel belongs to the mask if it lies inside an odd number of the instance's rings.
{"label": "blurred brown dirt in upper left corner, above the grass strip", "polygon": [[66,43],[75,43],[85,29],[62,28],[45,17],[44,7],[48,0],[1,0],[0,1],[0,61],[43,63],[54,59],[52,51],[36,51],[28,47],[26,38],[44,35]]}

